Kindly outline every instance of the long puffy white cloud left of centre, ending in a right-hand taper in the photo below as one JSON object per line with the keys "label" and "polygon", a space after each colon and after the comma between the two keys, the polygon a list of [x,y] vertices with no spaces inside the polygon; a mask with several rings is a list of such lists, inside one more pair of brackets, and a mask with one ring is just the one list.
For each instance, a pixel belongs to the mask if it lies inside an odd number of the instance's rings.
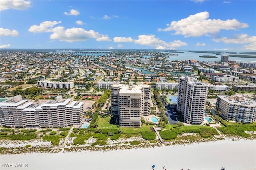
{"label": "long puffy white cloud left of centre, ending in a right-hand taper", "polygon": [[86,31],[83,28],[64,29],[62,26],[57,26],[52,29],[53,34],[50,35],[52,40],[60,40],[64,42],[86,41],[90,38],[95,38],[96,41],[111,41],[108,35],[102,35],[94,30]]}

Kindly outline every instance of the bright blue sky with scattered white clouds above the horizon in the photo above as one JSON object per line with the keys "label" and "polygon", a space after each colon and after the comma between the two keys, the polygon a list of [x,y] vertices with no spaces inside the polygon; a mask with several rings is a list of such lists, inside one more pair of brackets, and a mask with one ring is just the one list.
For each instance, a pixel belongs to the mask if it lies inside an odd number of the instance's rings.
{"label": "bright blue sky with scattered white clouds above the horizon", "polygon": [[256,1],[1,0],[0,48],[256,50]]}

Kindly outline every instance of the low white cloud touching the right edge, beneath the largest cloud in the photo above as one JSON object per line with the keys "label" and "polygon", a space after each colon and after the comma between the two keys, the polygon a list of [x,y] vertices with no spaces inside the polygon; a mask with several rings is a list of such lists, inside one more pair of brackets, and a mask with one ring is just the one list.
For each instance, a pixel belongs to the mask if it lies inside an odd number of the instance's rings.
{"label": "low white cloud touching the right edge, beneath the largest cloud", "polygon": [[256,36],[248,36],[247,34],[236,35],[233,38],[221,37],[212,39],[214,42],[224,42],[224,43],[249,43],[249,45],[244,45],[244,49],[256,50]]}

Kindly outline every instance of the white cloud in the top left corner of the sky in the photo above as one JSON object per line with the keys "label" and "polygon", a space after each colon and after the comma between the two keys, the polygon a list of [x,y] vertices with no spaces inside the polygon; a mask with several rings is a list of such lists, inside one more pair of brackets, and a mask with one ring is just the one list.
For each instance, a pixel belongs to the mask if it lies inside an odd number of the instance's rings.
{"label": "white cloud in the top left corner of the sky", "polygon": [[30,8],[31,1],[24,0],[0,0],[0,11],[10,8],[15,10],[26,10]]}

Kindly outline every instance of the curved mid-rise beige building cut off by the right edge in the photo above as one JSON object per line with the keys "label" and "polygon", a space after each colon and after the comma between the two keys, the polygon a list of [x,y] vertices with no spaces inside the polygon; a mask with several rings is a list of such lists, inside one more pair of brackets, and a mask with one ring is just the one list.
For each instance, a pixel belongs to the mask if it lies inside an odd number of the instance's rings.
{"label": "curved mid-rise beige building cut off by the right edge", "polygon": [[218,111],[224,119],[253,123],[256,121],[256,102],[243,96],[218,96]]}

